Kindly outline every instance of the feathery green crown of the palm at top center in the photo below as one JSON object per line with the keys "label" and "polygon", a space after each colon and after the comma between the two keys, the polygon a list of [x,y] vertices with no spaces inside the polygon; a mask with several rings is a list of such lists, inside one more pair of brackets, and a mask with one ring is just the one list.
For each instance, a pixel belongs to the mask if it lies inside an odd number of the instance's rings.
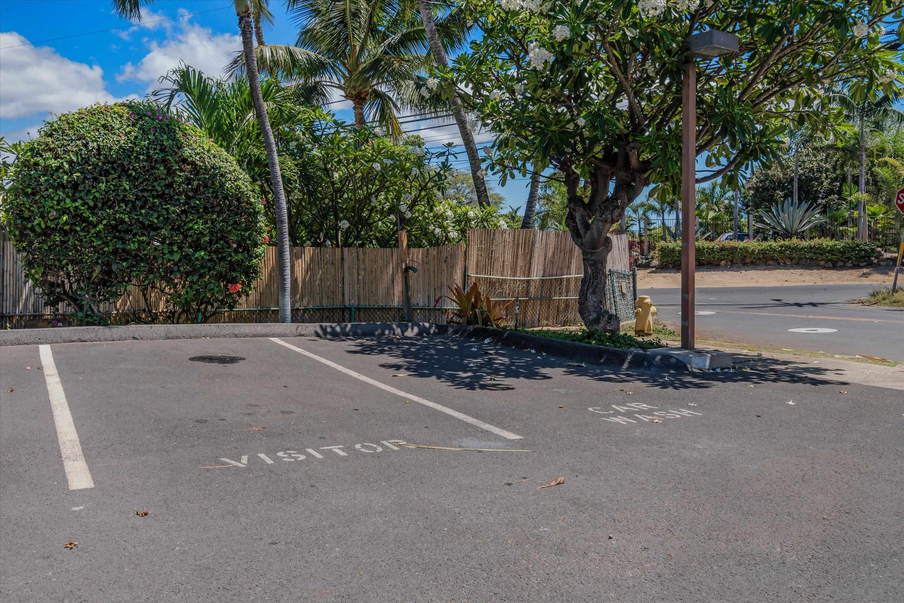
{"label": "feathery green crown of the palm at top center", "polygon": [[[416,85],[430,61],[429,44],[407,0],[287,0],[286,5],[299,28],[296,43],[259,46],[262,71],[337,90],[352,101],[356,127],[376,121],[394,137],[402,134],[401,108],[447,110],[438,99],[423,99],[422,86]],[[455,50],[466,41],[467,28],[460,15],[450,15],[438,20],[437,31],[444,47]],[[240,61],[233,61],[231,70],[240,69]]]}

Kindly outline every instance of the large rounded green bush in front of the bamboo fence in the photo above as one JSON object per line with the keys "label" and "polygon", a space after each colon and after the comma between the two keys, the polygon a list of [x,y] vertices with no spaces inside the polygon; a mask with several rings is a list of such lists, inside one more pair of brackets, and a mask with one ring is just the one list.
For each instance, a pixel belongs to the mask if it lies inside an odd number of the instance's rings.
{"label": "large rounded green bush in front of the bamboo fence", "polygon": [[2,220],[25,272],[76,322],[137,285],[151,320],[233,306],[259,274],[263,205],[235,160],[148,102],[46,122],[11,174]]}

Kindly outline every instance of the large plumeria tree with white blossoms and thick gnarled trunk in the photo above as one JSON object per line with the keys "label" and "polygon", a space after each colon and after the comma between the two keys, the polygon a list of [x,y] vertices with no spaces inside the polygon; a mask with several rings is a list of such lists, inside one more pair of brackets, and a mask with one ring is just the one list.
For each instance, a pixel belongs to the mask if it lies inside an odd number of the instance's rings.
{"label": "large plumeria tree with white blossoms and thick gnarled trunk", "polygon": [[[650,184],[674,198],[681,184],[681,81],[686,36],[734,33],[739,53],[697,61],[697,183],[775,158],[788,127],[831,134],[841,110],[821,90],[847,82],[899,94],[901,4],[886,0],[464,0],[483,30],[449,70],[468,108],[497,133],[485,169],[503,179],[554,166],[565,218],[584,262],[579,313],[605,314],[608,232]],[[888,27],[889,31],[882,29]]]}

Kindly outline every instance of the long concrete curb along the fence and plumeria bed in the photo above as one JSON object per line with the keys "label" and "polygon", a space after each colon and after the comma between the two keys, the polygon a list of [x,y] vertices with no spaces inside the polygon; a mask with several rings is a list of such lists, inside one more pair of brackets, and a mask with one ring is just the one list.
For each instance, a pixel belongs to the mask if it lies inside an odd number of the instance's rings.
{"label": "long concrete curb along the fence and plumeria bed", "polygon": [[0,346],[36,344],[87,344],[165,339],[211,339],[236,337],[367,337],[374,335],[418,336],[448,334],[485,340],[521,349],[536,350],[580,363],[605,364],[622,369],[692,371],[687,364],[668,354],[639,350],[619,350],[600,345],[539,337],[482,326],[432,325],[429,323],[345,323],[345,324],[223,324],[223,325],[125,325],[73,326],[48,329],[0,331]]}

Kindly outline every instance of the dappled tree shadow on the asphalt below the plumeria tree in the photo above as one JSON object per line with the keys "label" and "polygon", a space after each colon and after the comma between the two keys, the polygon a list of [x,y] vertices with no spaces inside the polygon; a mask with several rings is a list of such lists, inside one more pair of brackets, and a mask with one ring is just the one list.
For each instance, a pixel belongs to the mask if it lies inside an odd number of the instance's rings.
{"label": "dappled tree shadow on the asphalt below the plumeria tree", "polygon": [[796,385],[848,385],[833,379],[841,371],[829,367],[801,367],[793,361],[765,356],[736,356],[735,372],[658,372],[626,370],[611,365],[571,366],[558,356],[532,353],[494,343],[457,336],[377,337],[346,339],[347,353],[382,356],[381,368],[411,377],[433,378],[456,389],[511,391],[524,382],[556,376],[585,377],[598,382],[642,383],[662,390],[702,390],[723,383],[787,383]]}

